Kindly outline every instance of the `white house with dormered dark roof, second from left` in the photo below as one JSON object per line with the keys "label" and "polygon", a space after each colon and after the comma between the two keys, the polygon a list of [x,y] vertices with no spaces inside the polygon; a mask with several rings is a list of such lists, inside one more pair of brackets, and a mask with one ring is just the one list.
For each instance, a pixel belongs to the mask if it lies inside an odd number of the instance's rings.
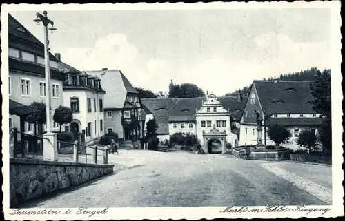
{"label": "white house with dormered dark roof, second from left", "polygon": [[103,101],[106,93],[97,76],[81,72],[61,61],[61,55],[55,54],[59,61],[59,70],[64,73],[63,106],[70,107],[73,120],[66,125],[75,139],[83,134],[86,143],[92,142],[104,134]]}

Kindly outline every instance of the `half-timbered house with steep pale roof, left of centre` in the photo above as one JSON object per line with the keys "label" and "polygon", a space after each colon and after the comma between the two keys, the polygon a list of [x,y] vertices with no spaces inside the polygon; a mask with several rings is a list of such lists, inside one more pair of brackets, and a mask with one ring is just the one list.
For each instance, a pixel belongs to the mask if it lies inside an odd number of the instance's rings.
{"label": "half-timbered house with steep pale roof, left of centre", "polygon": [[144,129],[139,93],[121,70],[86,71],[100,79],[104,95],[104,129],[119,135],[119,141],[139,140]]}

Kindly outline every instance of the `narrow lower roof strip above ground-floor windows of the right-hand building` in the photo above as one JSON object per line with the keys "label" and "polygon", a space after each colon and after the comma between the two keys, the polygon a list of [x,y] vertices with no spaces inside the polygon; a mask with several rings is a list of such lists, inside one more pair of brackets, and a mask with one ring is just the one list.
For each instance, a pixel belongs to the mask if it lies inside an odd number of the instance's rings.
{"label": "narrow lower roof strip above ground-floor windows of the right-hand building", "polygon": [[323,123],[323,118],[268,118],[266,125],[284,126],[319,126]]}

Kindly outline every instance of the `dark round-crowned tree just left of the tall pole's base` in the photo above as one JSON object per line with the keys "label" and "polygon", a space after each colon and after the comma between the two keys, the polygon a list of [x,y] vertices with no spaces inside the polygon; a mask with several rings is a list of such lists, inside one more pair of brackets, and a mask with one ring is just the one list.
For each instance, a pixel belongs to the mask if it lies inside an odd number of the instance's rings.
{"label": "dark round-crowned tree just left of the tall pole's base", "polygon": [[47,122],[46,103],[39,103],[34,101],[32,104],[29,105],[29,107],[37,109],[38,112],[26,116],[26,121],[28,123],[34,124],[34,134],[37,134],[36,125],[39,125],[39,134],[41,134],[43,132],[42,125]]}

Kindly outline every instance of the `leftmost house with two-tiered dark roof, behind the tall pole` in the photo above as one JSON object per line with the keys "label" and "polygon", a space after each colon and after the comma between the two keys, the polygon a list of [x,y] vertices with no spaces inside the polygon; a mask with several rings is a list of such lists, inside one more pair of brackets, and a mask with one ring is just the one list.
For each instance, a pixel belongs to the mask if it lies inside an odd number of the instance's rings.
{"label": "leftmost house with two-tiered dark roof, behind the tall pole", "polygon": [[[50,56],[51,112],[63,105],[63,73],[57,69],[58,60]],[[46,79],[44,63],[44,45],[35,38],[21,23],[8,14],[8,94],[9,99],[30,105],[33,102],[46,103]],[[19,116],[9,116],[10,127],[20,128]],[[25,123],[24,131],[28,134],[38,131],[39,127]],[[59,131],[59,124],[52,123],[52,131]]]}

